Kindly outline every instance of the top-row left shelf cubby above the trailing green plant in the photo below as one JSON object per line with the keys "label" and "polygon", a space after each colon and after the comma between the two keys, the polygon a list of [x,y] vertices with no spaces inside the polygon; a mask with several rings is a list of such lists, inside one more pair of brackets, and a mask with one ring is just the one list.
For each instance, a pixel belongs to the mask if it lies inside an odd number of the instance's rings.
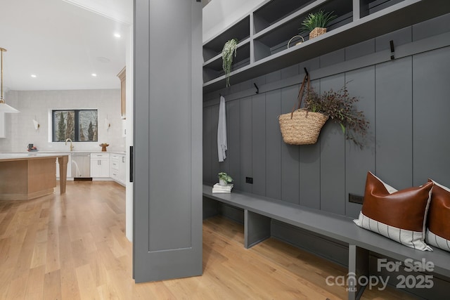
{"label": "top-row left shelf cubby above the trailing green plant", "polygon": [[222,52],[224,44],[230,39],[238,39],[238,42],[250,37],[250,15],[231,25],[221,34],[213,37],[203,44],[203,61],[207,62]]}

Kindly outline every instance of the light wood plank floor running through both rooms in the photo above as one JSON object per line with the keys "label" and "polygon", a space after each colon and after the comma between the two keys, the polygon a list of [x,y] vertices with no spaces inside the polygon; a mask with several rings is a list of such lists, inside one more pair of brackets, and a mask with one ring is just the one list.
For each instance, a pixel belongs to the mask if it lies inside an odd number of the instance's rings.
{"label": "light wood plank floor running through both rooms", "polygon": [[[203,276],[134,284],[125,190],[70,182],[67,193],[0,200],[0,299],[347,299],[326,285],[346,270],[288,244],[243,247],[243,226],[204,221]],[[363,299],[411,299],[394,289]]]}

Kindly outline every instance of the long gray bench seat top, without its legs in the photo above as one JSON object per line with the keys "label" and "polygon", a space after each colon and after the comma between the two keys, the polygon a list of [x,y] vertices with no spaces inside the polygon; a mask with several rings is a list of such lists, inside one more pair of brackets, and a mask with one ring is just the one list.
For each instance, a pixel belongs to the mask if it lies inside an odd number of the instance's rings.
{"label": "long gray bench seat top, without its legs", "polygon": [[433,252],[423,252],[406,247],[393,240],[378,235],[353,223],[347,216],[328,211],[311,209],[299,205],[271,199],[264,196],[233,190],[231,193],[213,194],[212,186],[203,185],[203,196],[230,204],[240,209],[268,216],[290,225],[332,237],[336,240],[368,249],[398,261],[411,258],[416,261],[431,261],[435,264],[435,273],[450,278],[450,253],[433,247]]}

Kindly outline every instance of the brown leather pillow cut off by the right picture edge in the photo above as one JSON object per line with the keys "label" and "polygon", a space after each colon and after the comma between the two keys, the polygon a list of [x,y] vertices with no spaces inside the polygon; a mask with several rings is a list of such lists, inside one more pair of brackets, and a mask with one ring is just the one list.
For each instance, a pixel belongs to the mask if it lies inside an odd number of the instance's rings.
{"label": "brown leather pillow cut off by the right picture edge", "polygon": [[450,189],[431,179],[428,181],[435,185],[428,212],[427,242],[450,252]]}

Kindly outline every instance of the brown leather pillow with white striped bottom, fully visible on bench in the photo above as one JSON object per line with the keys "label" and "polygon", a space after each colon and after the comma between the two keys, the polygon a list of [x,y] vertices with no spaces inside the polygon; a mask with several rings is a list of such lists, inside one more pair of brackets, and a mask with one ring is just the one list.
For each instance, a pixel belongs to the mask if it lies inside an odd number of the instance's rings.
{"label": "brown leather pillow with white striped bottom, fully visible on bench", "polygon": [[432,251],[425,244],[432,187],[432,182],[428,182],[417,188],[396,190],[368,172],[363,207],[354,223],[405,246]]}

